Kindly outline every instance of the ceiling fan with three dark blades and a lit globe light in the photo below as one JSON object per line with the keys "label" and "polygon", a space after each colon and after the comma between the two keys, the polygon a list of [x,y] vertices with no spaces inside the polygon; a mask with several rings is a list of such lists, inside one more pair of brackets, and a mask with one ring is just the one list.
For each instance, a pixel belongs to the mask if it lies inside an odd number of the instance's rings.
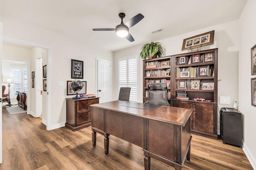
{"label": "ceiling fan with three dark blades and a lit globe light", "polygon": [[120,13],[119,17],[121,18],[121,24],[116,26],[116,28],[94,28],[93,31],[116,31],[116,34],[119,37],[125,37],[130,42],[134,41],[134,38],[129,33],[129,28],[140,22],[144,18],[142,14],[137,14],[136,16],[132,17],[128,20],[125,24],[123,22],[123,18],[125,17],[124,13]]}

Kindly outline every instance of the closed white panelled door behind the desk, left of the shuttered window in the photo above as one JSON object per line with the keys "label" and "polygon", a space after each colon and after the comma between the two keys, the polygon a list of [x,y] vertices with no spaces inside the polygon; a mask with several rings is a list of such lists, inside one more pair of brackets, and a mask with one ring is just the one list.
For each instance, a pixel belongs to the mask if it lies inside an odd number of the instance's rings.
{"label": "closed white panelled door behind the desk, left of the shuttered window", "polygon": [[100,103],[112,101],[111,61],[97,59],[97,96]]}

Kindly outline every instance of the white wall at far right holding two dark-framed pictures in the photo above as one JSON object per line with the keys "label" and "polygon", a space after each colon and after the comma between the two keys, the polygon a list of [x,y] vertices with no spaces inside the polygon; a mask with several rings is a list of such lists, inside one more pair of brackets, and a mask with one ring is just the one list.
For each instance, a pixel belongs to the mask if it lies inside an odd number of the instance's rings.
{"label": "white wall at far right holding two dark-framed pictures", "polygon": [[[240,16],[239,51],[239,101],[240,111],[244,114],[244,143],[246,155],[256,169],[256,107],[251,105],[251,48],[256,44],[255,0],[248,0]],[[254,162],[254,163],[252,163]]]}

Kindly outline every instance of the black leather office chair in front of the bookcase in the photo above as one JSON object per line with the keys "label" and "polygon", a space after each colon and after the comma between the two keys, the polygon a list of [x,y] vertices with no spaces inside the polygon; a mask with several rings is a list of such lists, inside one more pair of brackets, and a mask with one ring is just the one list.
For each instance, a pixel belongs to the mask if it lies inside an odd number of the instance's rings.
{"label": "black leather office chair in front of the bookcase", "polygon": [[147,104],[170,106],[168,103],[168,92],[166,83],[149,83],[148,84],[148,101]]}

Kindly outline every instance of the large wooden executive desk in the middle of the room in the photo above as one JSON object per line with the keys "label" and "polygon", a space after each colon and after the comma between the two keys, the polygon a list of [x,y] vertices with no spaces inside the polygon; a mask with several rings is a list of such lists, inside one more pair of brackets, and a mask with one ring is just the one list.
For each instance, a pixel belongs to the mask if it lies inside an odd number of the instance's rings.
{"label": "large wooden executive desk in the middle of the room", "polygon": [[91,105],[92,146],[96,147],[96,132],[104,135],[108,155],[108,136],[112,134],[143,148],[145,170],[150,170],[150,157],[181,170],[185,159],[190,160],[192,109],[160,106],[146,110],[125,106],[129,103]]}

